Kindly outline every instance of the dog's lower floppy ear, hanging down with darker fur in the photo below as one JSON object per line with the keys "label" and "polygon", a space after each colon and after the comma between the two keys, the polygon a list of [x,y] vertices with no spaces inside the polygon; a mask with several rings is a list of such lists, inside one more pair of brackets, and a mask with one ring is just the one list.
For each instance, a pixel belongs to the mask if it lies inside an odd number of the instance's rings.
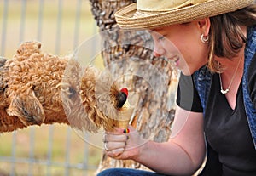
{"label": "dog's lower floppy ear, hanging down with darker fur", "polygon": [[32,88],[26,93],[13,96],[9,108],[9,116],[18,116],[20,121],[28,125],[41,125],[44,122],[44,109]]}

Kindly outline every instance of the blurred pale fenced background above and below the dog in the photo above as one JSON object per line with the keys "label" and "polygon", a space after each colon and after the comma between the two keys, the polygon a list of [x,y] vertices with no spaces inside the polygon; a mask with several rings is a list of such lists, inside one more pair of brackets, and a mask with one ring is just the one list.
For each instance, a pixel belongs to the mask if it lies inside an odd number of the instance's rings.
{"label": "blurred pale fenced background above and below the dog", "polygon": [[[70,54],[97,31],[88,0],[0,0],[0,57],[12,58],[20,43],[32,40],[40,41],[44,52]],[[88,45],[84,57],[94,48]],[[102,149],[66,125],[0,134],[0,176],[90,176],[101,157]]]}

